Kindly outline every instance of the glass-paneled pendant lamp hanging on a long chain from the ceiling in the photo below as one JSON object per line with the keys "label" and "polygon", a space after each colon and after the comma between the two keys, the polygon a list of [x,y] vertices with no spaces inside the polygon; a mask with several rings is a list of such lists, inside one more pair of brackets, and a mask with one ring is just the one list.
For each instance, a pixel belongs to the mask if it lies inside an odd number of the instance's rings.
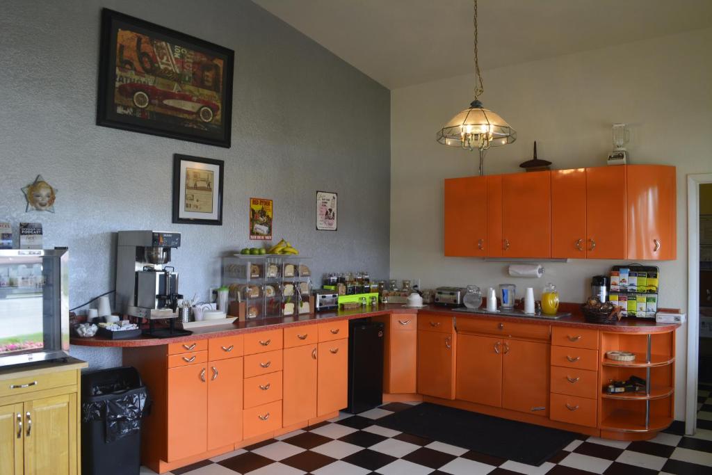
{"label": "glass-paneled pendant lamp hanging on a long chain from the ceiling", "polygon": [[475,100],[470,107],[452,118],[437,133],[437,140],[442,145],[462,147],[466,150],[478,150],[480,154],[480,174],[483,174],[484,152],[489,147],[507,145],[517,139],[517,132],[496,113],[483,108],[478,99],[483,93],[482,74],[477,58],[477,0],[474,0],[472,23],[475,27]]}

